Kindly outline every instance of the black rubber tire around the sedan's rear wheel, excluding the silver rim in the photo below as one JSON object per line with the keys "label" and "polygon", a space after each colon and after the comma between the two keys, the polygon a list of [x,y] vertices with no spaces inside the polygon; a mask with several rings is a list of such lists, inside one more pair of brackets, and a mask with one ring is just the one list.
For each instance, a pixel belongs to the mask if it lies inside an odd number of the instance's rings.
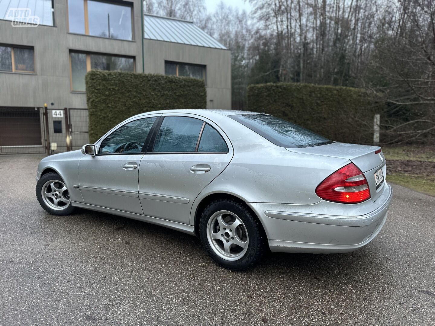
{"label": "black rubber tire around the sedan's rear wheel, excluding the silver rim", "polygon": [[[248,233],[248,249],[237,260],[227,260],[215,253],[207,238],[207,224],[211,217],[219,211],[230,211],[236,214],[244,223],[246,232]],[[218,231],[221,232],[221,231]],[[204,249],[218,265],[231,270],[244,270],[257,264],[263,257],[267,247],[266,236],[261,223],[248,210],[246,204],[232,199],[215,200],[208,204],[201,214],[199,224],[199,237]],[[228,241],[227,241],[228,242]]]}

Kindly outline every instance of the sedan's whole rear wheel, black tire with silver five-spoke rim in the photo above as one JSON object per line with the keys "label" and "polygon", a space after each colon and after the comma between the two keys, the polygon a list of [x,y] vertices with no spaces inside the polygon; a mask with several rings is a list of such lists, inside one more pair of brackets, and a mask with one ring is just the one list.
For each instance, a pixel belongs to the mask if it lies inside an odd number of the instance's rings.
{"label": "sedan's whole rear wheel, black tire with silver five-spoke rim", "polygon": [[201,215],[201,242],[219,265],[244,270],[254,266],[266,248],[261,224],[244,203],[216,200]]}

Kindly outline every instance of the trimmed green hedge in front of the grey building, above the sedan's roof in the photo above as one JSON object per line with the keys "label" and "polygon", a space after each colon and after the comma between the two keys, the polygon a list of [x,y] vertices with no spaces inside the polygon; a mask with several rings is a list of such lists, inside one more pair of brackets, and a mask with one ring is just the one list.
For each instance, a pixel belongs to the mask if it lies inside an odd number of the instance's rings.
{"label": "trimmed green hedge in front of the grey building, above the sedan's roof", "polygon": [[164,75],[91,70],[86,74],[89,140],[95,142],[123,120],[139,113],[204,109],[203,80]]}

